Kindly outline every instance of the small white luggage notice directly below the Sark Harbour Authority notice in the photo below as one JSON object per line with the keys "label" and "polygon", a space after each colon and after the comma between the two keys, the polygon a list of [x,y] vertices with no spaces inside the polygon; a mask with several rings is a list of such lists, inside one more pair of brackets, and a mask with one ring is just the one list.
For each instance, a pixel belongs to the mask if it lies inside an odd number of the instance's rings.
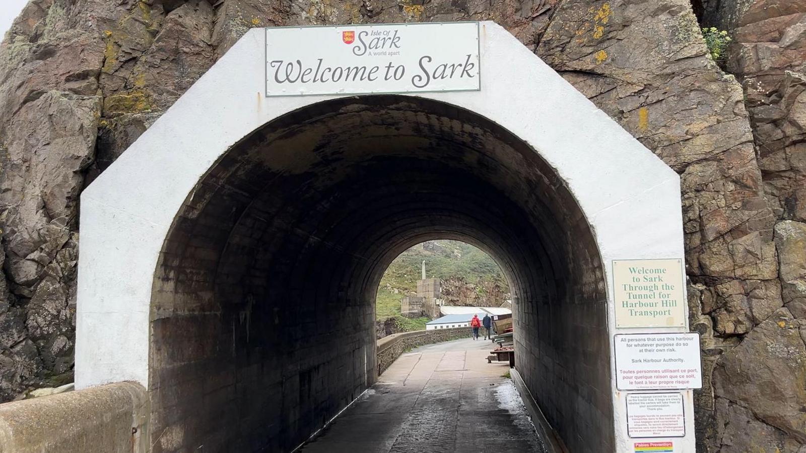
{"label": "small white luggage notice directly below the Sark Harbour Authority notice", "polygon": [[684,437],[686,422],[681,393],[627,395],[627,434],[631,438]]}

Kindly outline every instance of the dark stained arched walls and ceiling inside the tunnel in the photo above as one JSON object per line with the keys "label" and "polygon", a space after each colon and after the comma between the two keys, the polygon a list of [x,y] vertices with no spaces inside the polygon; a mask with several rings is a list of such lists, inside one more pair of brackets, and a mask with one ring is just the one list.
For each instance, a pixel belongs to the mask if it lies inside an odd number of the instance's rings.
{"label": "dark stained arched walls and ceiling inside the tunnel", "polygon": [[152,285],[154,451],[293,451],[376,381],[380,277],[429,239],[496,260],[530,393],[571,451],[613,451],[605,277],[575,198],[488,118],[397,95],[280,116],[186,198]]}

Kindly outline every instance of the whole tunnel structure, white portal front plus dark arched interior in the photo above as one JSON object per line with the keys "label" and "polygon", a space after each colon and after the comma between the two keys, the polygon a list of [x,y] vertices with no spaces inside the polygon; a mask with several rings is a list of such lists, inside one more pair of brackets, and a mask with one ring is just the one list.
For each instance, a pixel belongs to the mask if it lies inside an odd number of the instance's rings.
{"label": "whole tunnel structure, white portal front plus dark arched interior", "polygon": [[388,263],[442,237],[510,276],[519,368],[572,451],[622,451],[609,263],[682,258],[679,180],[484,26],[495,77],[416,97],[264,99],[244,36],[82,195],[77,384],[143,383],[161,451],[289,451],[375,379]]}

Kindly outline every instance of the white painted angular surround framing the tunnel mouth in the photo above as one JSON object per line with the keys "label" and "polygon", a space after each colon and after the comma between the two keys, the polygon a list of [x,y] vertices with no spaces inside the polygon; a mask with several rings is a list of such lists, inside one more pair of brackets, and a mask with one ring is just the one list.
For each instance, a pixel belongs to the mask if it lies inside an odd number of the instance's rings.
{"label": "white painted angular surround framing the tunnel mouth", "polygon": [[[614,376],[612,335],[638,330],[615,328],[612,263],[683,260],[679,177],[503,27],[480,24],[480,52],[480,91],[417,96],[472,110],[505,127],[538,150],[571,189],[605,264]],[[253,29],[82,193],[79,388],[121,380],[148,388],[152,281],[185,198],[212,164],[252,131],[339,97],[264,98],[263,93],[264,31]],[[634,451],[625,395],[612,381],[617,452]],[[686,437],[647,440],[673,440],[675,453],[694,453],[692,391],[683,394]]]}

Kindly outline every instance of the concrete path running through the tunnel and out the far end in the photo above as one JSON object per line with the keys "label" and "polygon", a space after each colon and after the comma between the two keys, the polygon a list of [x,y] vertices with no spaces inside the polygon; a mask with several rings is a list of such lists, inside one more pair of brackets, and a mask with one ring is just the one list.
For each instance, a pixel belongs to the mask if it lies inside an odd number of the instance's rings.
{"label": "concrete path running through the tunnel and out the far end", "polygon": [[304,453],[543,451],[508,364],[492,343],[459,339],[401,355]]}

